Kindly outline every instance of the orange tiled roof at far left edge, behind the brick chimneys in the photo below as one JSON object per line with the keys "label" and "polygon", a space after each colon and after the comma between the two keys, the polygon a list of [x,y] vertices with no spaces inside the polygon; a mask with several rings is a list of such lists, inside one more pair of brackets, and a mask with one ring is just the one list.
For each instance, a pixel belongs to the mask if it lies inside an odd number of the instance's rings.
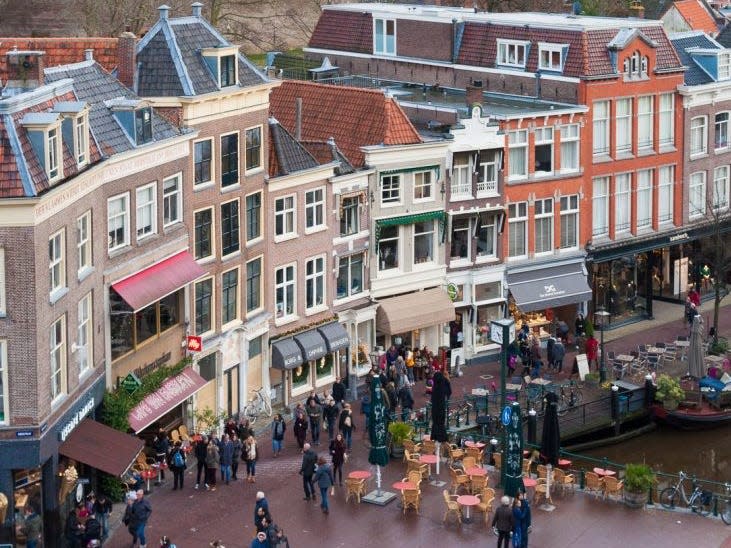
{"label": "orange tiled roof at far left edge, behind the brick chimneys", "polygon": [[84,50],[94,50],[94,60],[108,71],[117,66],[116,38],[1,38],[0,80],[6,80],[5,53],[17,47],[19,50],[44,51],[45,67],[69,65],[84,60]]}

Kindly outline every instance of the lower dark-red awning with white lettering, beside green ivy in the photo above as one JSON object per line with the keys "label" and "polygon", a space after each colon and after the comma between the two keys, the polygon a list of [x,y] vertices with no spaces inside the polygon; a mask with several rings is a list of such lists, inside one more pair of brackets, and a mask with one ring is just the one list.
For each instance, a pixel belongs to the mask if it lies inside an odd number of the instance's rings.
{"label": "lower dark-red awning with white lettering, beside green ivy", "polygon": [[206,385],[206,381],[190,367],[166,380],[129,412],[129,425],[135,433],[150,426],[171,409],[183,403]]}

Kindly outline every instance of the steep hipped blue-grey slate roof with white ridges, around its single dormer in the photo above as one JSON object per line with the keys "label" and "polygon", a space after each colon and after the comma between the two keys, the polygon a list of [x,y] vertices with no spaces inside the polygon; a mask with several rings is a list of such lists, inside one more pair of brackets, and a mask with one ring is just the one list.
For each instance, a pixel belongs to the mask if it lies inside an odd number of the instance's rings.
{"label": "steep hipped blue-grey slate roof with white ridges, around its single dormer", "polygon": [[[137,92],[143,97],[190,97],[219,91],[201,49],[232,45],[202,17],[160,18],[137,44]],[[239,86],[268,81],[241,53],[238,68]]]}

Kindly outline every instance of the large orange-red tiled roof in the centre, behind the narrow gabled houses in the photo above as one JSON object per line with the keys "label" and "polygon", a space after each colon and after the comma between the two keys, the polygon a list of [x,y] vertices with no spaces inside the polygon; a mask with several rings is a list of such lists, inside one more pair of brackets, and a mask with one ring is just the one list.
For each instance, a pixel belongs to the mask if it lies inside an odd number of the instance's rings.
{"label": "large orange-red tiled roof in the centre, behind the narrow gabled houses", "polygon": [[295,128],[298,98],[302,99],[302,140],[332,137],[357,168],[365,162],[361,146],[421,142],[401,107],[381,91],[285,80],[272,90],[269,105],[272,116],[289,131]]}

